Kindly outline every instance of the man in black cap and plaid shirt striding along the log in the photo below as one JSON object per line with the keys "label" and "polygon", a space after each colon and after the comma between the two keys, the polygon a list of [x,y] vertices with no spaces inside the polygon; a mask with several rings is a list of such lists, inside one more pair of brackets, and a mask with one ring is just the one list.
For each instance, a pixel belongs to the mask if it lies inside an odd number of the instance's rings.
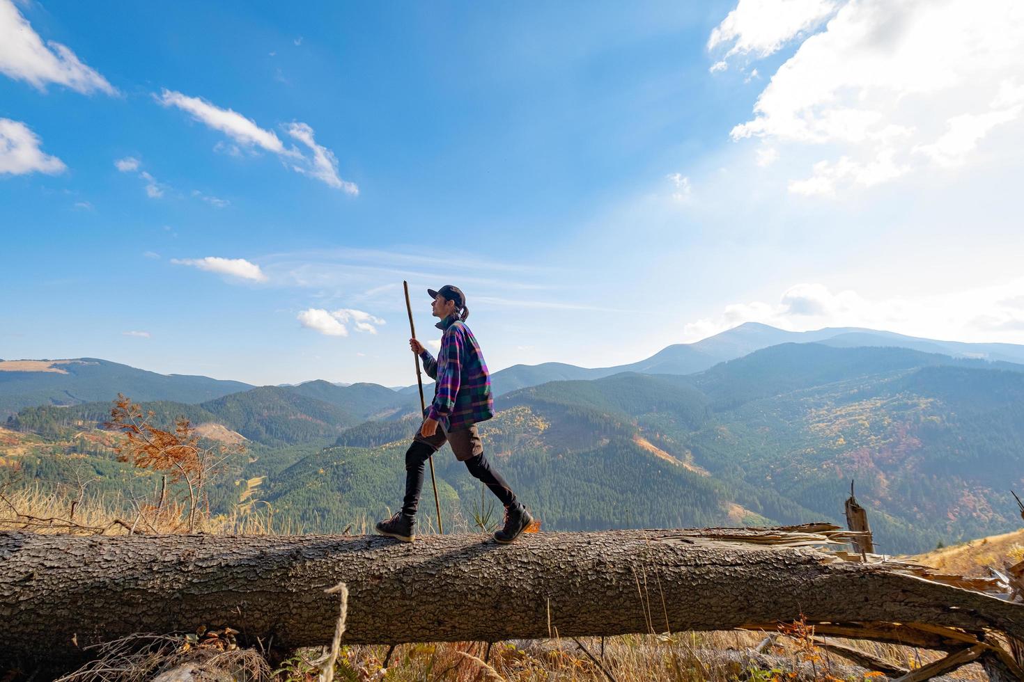
{"label": "man in black cap and plaid shirt striding along the log", "polygon": [[473,332],[466,326],[469,309],[462,290],[445,284],[437,291],[427,289],[434,300],[431,311],[443,333],[437,359],[415,338],[409,347],[423,360],[427,374],[436,380],[434,399],[424,413],[423,423],[406,451],[406,499],[391,518],[377,524],[377,532],[403,542],[416,539],[416,509],[423,488],[423,466],[445,442],[459,461],[480,480],[505,506],[505,526],[495,532],[495,540],[509,543],[534,520],[516,500],[505,480],[483,456],[483,444],[476,422],[495,414],[490,375]]}

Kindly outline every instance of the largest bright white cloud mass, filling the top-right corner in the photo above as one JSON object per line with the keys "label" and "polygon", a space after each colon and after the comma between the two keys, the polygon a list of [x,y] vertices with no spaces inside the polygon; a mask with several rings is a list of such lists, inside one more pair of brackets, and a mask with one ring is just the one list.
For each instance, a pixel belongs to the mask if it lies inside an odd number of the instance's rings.
{"label": "largest bright white cloud mass, filling the top-right corner", "polygon": [[[761,92],[754,118],[731,133],[734,140],[760,137],[777,153],[815,154],[810,176],[790,183],[793,193],[833,195],[926,168],[951,169],[997,129],[1012,135],[999,145],[1004,153],[1020,148],[1024,4],[804,4],[809,27],[829,7],[839,10],[824,31],[803,40]],[[754,16],[766,6],[741,0],[729,16],[744,9]],[[716,29],[710,46],[734,37],[730,54],[760,56],[787,40],[781,29],[743,28],[739,14]],[[780,27],[797,26],[783,18]]]}

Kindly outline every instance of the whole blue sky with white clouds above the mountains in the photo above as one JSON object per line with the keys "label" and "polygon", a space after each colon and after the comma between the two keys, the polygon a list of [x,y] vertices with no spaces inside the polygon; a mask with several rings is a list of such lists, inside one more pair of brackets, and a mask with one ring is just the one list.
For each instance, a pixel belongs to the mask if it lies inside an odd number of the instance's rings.
{"label": "whole blue sky with white clouds above the mountains", "polygon": [[0,358],[412,381],[746,320],[1024,343],[1024,17],[0,0]]}

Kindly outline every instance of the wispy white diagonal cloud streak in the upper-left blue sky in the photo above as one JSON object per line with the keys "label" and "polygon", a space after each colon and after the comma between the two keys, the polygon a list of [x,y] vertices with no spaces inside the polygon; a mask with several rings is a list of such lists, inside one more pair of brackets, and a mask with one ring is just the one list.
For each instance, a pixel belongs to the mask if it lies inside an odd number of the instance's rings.
{"label": "wispy white diagonal cloud streak in the upper-left blue sky", "polygon": [[238,111],[220,108],[201,97],[189,97],[166,88],[159,96],[154,95],[154,97],[164,106],[176,106],[191,113],[193,118],[200,123],[206,124],[214,130],[219,130],[237,143],[223,146],[218,142],[214,146],[216,151],[240,155],[241,150],[238,145],[250,149],[259,147],[281,156],[287,166],[297,173],[308,175],[347,194],[356,195],[359,193],[359,188],[355,183],[342,180],[338,176],[337,157],[327,147],[316,144],[313,129],[307,124],[292,123],[286,127],[286,131],[292,138],[309,149],[309,155],[302,153],[294,145],[286,147],[273,131],[260,128],[254,121]]}

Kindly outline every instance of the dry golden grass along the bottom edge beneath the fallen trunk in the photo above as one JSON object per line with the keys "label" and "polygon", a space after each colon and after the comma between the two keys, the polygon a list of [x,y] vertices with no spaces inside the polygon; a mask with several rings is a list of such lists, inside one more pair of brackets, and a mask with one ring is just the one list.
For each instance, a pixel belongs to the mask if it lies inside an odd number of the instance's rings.
{"label": "dry golden grass along the bottom edge beneath the fallen trunk", "polygon": [[[776,644],[758,653],[755,647],[763,638],[764,633],[734,631],[624,635],[608,637],[602,647],[601,638],[586,637],[580,639],[586,651],[572,639],[513,640],[493,644],[489,653],[485,642],[401,644],[391,653],[386,669],[383,665],[389,647],[346,646],[338,660],[335,679],[359,682],[606,682],[608,676],[617,682],[885,679],[841,656],[802,646],[786,637],[778,637]],[[911,669],[938,657],[932,652],[926,655],[905,647],[860,644],[869,647],[874,655]],[[303,649],[275,671],[278,679],[311,682],[316,679],[313,664],[323,658],[323,649]],[[949,678],[988,679],[979,666],[963,668]]]}

